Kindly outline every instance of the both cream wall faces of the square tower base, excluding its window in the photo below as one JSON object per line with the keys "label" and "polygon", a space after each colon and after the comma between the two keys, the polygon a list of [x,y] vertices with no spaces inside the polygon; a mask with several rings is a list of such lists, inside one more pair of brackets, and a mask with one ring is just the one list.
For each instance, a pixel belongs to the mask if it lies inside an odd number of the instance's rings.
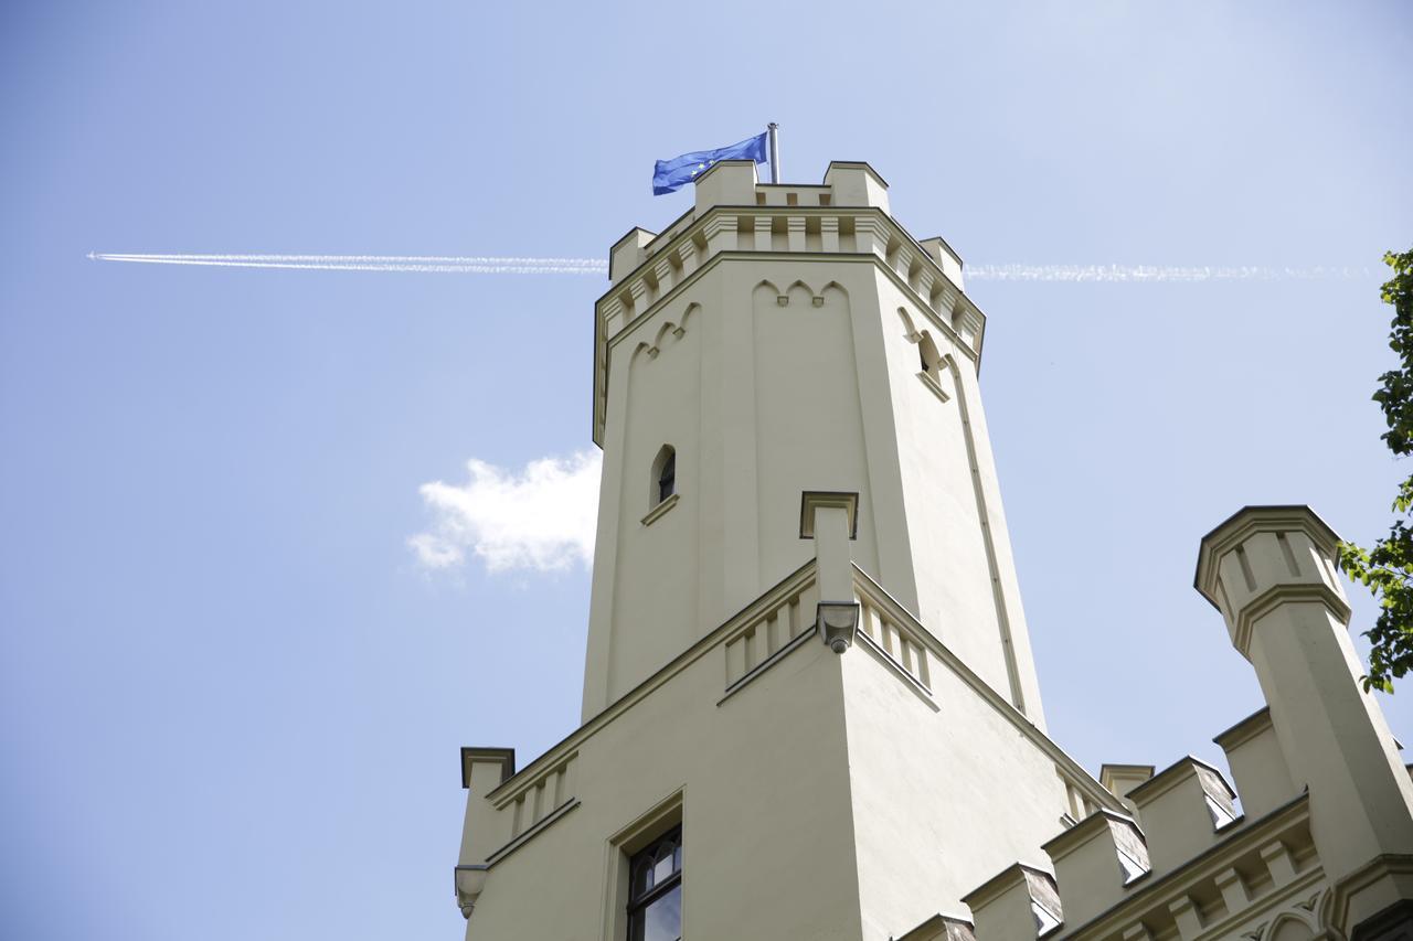
{"label": "both cream wall faces of the square tower base, excluding its window", "polygon": [[[900,626],[927,646],[930,685],[862,637],[832,653],[808,622],[793,643],[776,639],[774,660],[757,647],[757,673],[736,680],[728,664],[740,632],[786,600],[812,610],[812,579],[807,564],[784,582],[798,588],[771,588],[489,798],[473,771],[469,807],[482,810],[466,819],[485,832],[466,834],[462,862],[493,865],[468,938],[623,937],[632,846],[615,835],[674,794],[687,937],[868,941],[964,910],[961,894],[1012,859],[1043,859],[1067,805],[1063,774],[1099,797],[917,622]],[[567,756],[555,801],[572,798],[572,808],[554,818],[552,801],[540,800],[520,829],[550,822],[500,851],[514,836],[516,795],[533,794]]]}

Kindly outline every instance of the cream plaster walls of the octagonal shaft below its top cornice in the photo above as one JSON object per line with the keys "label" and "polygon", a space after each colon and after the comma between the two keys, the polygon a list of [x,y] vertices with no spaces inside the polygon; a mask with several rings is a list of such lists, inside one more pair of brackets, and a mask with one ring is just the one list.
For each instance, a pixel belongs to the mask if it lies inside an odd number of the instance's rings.
{"label": "cream plaster walls of the octagonal shaft below its top cornice", "polygon": [[[810,557],[803,490],[852,490],[855,561],[1043,728],[974,359],[875,256],[729,259],[608,363],[585,719]],[[680,504],[644,526],[664,442]]]}

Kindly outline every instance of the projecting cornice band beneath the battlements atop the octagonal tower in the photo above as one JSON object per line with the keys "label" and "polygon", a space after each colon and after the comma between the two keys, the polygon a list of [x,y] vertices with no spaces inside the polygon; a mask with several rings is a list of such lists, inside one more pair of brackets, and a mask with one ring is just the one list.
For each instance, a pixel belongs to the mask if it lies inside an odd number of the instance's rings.
{"label": "projecting cornice band beneath the battlements atop the octagonal tower", "polygon": [[[685,213],[684,213],[685,215]],[[743,216],[817,216],[821,218],[821,223],[825,220],[836,220],[849,218],[856,223],[863,220],[872,227],[882,227],[885,233],[897,236],[897,240],[909,246],[910,250],[920,259],[921,264],[930,270],[931,283],[941,285],[941,292],[944,300],[951,305],[962,305],[962,318],[969,319],[976,324],[975,343],[966,343],[957,333],[951,324],[944,322],[942,318],[933,309],[930,298],[921,297],[917,290],[907,283],[907,278],[900,276],[893,266],[879,256],[876,251],[755,251],[742,250],[739,247],[726,247],[712,250],[711,246],[705,247],[708,253],[705,260],[697,260],[692,270],[682,268],[681,280],[660,297],[649,302],[643,309],[633,308],[632,319],[620,325],[613,335],[608,335],[606,312],[622,307],[623,297],[646,297],[646,280],[653,274],[656,268],[656,261],[667,257],[677,257],[677,254],[685,247],[691,246],[690,254],[697,256],[701,250],[699,237],[705,237],[708,233],[715,233],[716,229],[723,226],[726,220],[731,220],[732,239],[735,239],[736,219]],[[678,218],[673,226],[681,222]],[[632,235],[637,229],[629,232]],[[671,232],[671,227],[668,229]],[[626,239],[627,236],[625,236]],[[619,244],[623,239],[619,240]],[[654,240],[650,243],[657,244]],[[955,257],[955,253],[952,253]],[[966,297],[966,294],[947,276],[938,261],[931,256],[931,253],[923,247],[917,239],[903,227],[893,216],[883,212],[876,206],[732,206],[732,205],[718,205],[712,206],[701,216],[691,220],[690,225],[684,226],[680,232],[674,233],[664,244],[657,247],[654,251],[649,253],[632,271],[625,274],[622,278],[615,281],[608,291],[605,291],[598,301],[593,304],[593,406],[592,406],[592,431],[593,442],[603,446],[603,421],[605,408],[608,407],[608,350],[616,341],[616,338],[632,331],[644,318],[651,316],[664,305],[674,301],[681,292],[695,284],[706,271],[714,268],[722,260],[753,260],[759,261],[762,259],[771,260],[801,260],[801,261],[865,261],[872,260],[876,267],[886,271],[889,278],[897,285],[945,336],[948,336],[952,343],[962,350],[962,353],[974,362],[974,369],[981,369],[981,352],[985,345],[985,325],[986,316],[981,312],[975,302]],[[656,277],[656,276],[654,276]]]}

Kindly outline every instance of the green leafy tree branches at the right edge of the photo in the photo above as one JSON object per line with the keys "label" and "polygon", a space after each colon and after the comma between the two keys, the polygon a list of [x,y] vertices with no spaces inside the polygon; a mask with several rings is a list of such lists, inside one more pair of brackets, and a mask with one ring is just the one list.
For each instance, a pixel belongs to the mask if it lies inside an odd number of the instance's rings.
{"label": "green leafy tree branches at the right edge of the photo", "polygon": [[[1397,353],[1399,366],[1379,376],[1382,384],[1373,401],[1389,425],[1383,444],[1403,458],[1413,454],[1413,249],[1389,251],[1383,261],[1393,268],[1382,298],[1393,305],[1389,348]],[[1393,513],[1399,519],[1373,548],[1340,544],[1340,568],[1379,599],[1379,619],[1364,632],[1372,643],[1364,688],[1383,692],[1393,692],[1393,680],[1413,670],[1413,476],[1399,485]]]}

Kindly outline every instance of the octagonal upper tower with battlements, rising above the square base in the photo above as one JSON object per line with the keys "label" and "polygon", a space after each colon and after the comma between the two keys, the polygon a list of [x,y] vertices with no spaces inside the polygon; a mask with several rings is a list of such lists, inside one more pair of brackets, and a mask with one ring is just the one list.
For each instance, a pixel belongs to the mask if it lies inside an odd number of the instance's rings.
{"label": "octagonal upper tower with battlements, rising above the square base", "polygon": [[[613,246],[588,721],[812,557],[803,490],[858,495],[852,558],[1044,728],[976,389],[983,318],[868,164],[822,187],[722,162]],[[675,492],[660,499],[673,455]]]}

